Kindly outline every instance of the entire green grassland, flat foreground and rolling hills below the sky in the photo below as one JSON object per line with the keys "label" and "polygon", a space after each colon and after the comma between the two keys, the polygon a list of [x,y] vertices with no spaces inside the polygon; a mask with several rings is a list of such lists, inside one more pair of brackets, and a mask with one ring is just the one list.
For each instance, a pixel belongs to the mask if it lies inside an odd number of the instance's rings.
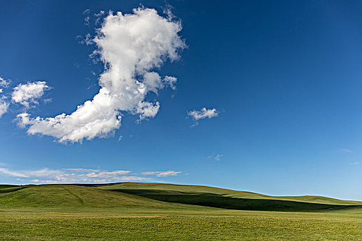
{"label": "entire green grassland, flat foreground and rolling hills below the sky", "polygon": [[361,205],[137,182],[0,185],[0,240],[362,240]]}

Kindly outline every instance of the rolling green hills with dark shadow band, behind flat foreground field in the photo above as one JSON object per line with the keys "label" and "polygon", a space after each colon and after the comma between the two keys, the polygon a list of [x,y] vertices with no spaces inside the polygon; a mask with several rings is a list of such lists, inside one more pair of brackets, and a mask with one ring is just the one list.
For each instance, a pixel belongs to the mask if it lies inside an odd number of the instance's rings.
{"label": "rolling green hills with dark shadow band, behind flat foreground field", "polygon": [[[341,211],[362,202],[322,196],[266,196],[196,185],[121,182],[102,185],[0,185],[0,207],[144,207],[198,205],[258,211]],[[181,206],[180,206],[181,205]],[[185,206],[182,206],[185,205]]]}

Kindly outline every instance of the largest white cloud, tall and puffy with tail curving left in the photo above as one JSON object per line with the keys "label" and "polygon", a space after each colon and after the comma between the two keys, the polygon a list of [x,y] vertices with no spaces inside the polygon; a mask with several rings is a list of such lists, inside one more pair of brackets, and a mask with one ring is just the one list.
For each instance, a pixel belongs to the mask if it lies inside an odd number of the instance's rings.
{"label": "largest white cloud, tall and puffy with tail curving left", "polygon": [[69,115],[31,118],[27,113],[19,114],[19,125],[29,126],[29,134],[77,142],[112,135],[120,128],[121,112],[140,114],[141,120],[154,117],[160,104],[145,101],[146,94],[165,85],[174,88],[176,78],[166,76],[159,81],[153,71],[166,59],[178,59],[178,52],[185,47],[178,36],[181,29],[179,22],[160,17],[149,8],[134,9],[133,14],[110,12],[93,39],[95,54],[105,69],[99,76],[99,93]]}

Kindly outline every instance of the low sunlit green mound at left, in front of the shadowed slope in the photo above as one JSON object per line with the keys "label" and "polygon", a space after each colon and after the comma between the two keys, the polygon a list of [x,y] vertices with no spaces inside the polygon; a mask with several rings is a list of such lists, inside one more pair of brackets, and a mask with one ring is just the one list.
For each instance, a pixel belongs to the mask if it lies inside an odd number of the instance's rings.
{"label": "low sunlit green mound at left, in front of the shadowed slope", "polygon": [[[0,193],[0,206],[7,207],[165,207],[149,198],[74,185],[39,185]],[[0,189],[1,190],[1,189]]]}

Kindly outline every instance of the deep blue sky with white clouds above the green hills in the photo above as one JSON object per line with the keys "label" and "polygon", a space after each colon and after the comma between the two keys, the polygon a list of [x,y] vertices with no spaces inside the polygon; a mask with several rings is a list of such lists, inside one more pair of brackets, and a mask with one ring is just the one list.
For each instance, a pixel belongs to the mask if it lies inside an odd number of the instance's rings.
{"label": "deep blue sky with white clouds above the green hills", "polygon": [[0,1],[0,182],[362,200],[361,13],[361,1]]}

